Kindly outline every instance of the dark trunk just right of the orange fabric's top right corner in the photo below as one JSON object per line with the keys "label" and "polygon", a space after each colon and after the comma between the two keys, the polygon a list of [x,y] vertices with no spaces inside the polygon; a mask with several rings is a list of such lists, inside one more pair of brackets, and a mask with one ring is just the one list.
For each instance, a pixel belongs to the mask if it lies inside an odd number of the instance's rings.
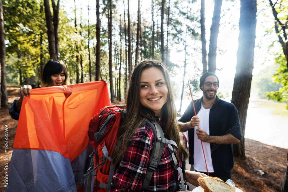
{"label": "dark trunk just right of the orange fabric's top right corner", "polygon": [[108,31],[109,31],[109,80],[110,80],[110,94],[111,102],[114,102],[113,91],[113,71],[112,71],[112,0],[109,0],[110,14],[108,16]]}

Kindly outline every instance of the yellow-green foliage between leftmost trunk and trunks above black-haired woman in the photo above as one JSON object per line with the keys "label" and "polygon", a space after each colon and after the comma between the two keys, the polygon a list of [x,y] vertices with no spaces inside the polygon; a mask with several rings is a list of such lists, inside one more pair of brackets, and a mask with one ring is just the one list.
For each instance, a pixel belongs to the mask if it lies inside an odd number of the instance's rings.
{"label": "yellow-green foliage between leftmost trunk and trunks above black-haired woman", "polygon": [[[43,12],[37,1],[11,0],[3,3],[6,52],[14,57],[14,63],[7,62],[12,71],[22,70],[22,76],[29,78],[37,73],[40,61],[40,37],[43,37]],[[44,46],[46,47],[46,46]],[[42,48],[42,51],[46,48]],[[18,76],[12,75],[11,82],[18,82]]]}

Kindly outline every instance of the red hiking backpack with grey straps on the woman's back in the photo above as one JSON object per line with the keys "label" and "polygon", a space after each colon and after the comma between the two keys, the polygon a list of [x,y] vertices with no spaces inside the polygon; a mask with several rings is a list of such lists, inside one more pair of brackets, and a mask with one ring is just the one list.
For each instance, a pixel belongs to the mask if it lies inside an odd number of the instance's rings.
{"label": "red hiking backpack with grey straps on the woman's back", "polygon": [[[125,110],[119,107],[116,105],[104,107],[90,120],[88,137],[90,143],[93,145],[94,151],[89,155],[89,158],[91,159],[90,168],[87,170],[87,174],[83,175],[85,177],[84,191],[90,192],[91,189],[93,189],[93,191],[106,192],[110,190],[112,177],[114,171],[116,170],[112,161],[114,149],[113,146],[116,142],[121,119],[124,118],[126,113]],[[169,147],[172,152],[171,155],[173,157],[175,170],[179,172],[181,181],[183,181],[181,182],[181,188],[185,190],[185,187],[187,186],[185,172],[179,167],[176,160],[177,158],[174,154],[174,152],[178,149],[177,144],[173,140],[164,138],[162,128],[157,122],[151,123],[149,120],[146,120],[145,122],[150,124],[150,126],[153,128],[155,137],[158,139],[157,142],[154,143],[154,151],[152,151],[152,155],[148,161],[148,168],[143,179],[142,189],[147,189],[151,176],[155,171],[164,151],[164,144],[166,143],[167,147]],[[171,145],[176,146],[176,149],[174,149],[175,147],[173,148]],[[185,180],[183,179],[183,173]],[[94,180],[93,183],[92,180]]]}

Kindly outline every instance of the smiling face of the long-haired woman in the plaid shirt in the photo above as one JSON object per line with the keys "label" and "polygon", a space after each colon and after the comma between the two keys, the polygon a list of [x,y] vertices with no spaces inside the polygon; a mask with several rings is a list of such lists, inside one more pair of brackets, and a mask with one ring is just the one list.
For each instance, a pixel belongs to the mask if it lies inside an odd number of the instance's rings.
{"label": "smiling face of the long-haired woman in the plaid shirt", "polygon": [[162,107],[167,102],[168,88],[164,75],[157,67],[144,69],[140,75],[140,103],[162,117]]}

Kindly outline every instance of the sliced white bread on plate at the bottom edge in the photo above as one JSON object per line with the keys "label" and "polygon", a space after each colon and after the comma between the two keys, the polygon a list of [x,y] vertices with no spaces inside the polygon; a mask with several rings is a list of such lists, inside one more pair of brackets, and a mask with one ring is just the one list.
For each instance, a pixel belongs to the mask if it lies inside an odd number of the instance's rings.
{"label": "sliced white bread on plate at the bottom edge", "polygon": [[233,187],[217,177],[199,177],[197,181],[206,192],[235,192]]}

